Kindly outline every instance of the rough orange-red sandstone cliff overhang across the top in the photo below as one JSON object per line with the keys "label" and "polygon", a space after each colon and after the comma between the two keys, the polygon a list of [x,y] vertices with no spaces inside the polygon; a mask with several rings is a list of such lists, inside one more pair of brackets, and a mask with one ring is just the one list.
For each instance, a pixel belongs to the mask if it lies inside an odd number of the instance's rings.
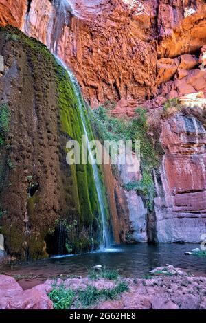
{"label": "rough orange-red sandstone cliff overhang across the top", "polygon": [[[174,75],[178,62],[171,58],[194,54],[205,45],[203,0],[28,3],[0,0],[1,25],[20,27],[65,60],[92,106],[152,98]],[[162,76],[164,69],[169,71]],[[183,67],[179,75],[187,75]],[[162,86],[158,93],[165,91],[175,95],[175,89]]]}

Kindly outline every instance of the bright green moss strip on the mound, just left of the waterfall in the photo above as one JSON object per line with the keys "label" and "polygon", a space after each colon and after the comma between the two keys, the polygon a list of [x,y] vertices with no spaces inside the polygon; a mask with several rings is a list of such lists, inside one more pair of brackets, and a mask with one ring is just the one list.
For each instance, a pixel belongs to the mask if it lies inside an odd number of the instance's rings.
{"label": "bright green moss strip on the mound, just left of the waterfall", "polygon": [[[60,65],[56,65],[56,69],[61,131],[68,139],[77,140],[81,149],[84,129],[73,85],[65,69]],[[65,150],[65,159],[66,153]],[[80,211],[80,226],[89,227],[93,224],[95,215],[99,213],[93,170],[91,165],[82,164],[73,165],[71,169],[73,181],[71,194],[73,201],[76,201],[77,210]]]}

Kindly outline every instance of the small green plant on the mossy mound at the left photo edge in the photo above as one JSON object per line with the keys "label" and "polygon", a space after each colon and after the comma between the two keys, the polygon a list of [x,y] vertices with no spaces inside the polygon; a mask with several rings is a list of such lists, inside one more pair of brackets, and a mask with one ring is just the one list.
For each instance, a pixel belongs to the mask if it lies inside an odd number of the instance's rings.
{"label": "small green plant on the mossy mound at the left photo edge", "polygon": [[7,103],[0,105],[0,146],[3,145],[10,129],[10,110]]}

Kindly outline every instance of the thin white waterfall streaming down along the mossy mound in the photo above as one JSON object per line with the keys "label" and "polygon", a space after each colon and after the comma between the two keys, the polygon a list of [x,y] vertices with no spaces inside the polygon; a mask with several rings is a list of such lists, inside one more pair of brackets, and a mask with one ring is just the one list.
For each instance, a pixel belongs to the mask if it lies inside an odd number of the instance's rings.
{"label": "thin white waterfall streaming down along the mossy mound", "polygon": [[[102,219],[102,238],[100,243],[100,249],[105,249],[111,245],[113,242],[112,238],[112,230],[108,227],[108,219],[106,219],[106,209],[104,205],[104,192],[102,191],[102,183],[100,179],[100,173],[98,169],[98,165],[95,163],[95,159],[91,152],[91,147],[89,146],[89,129],[87,126],[87,118],[86,113],[87,109],[84,104],[84,100],[82,98],[82,93],[80,87],[78,85],[78,81],[75,76],[73,76],[72,72],[68,69],[65,63],[62,62],[60,57],[58,56],[58,41],[60,40],[60,36],[62,35],[62,31],[64,30],[64,26],[68,25],[70,14],[72,15],[75,12],[73,8],[73,3],[69,0],[53,0],[53,11],[51,12],[49,25],[47,26],[47,47],[54,54],[56,60],[62,67],[64,67],[69,75],[69,79],[73,85],[73,91],[76,94],[76,98],[78,101],[78,109],[80,110],[80,115],[82,119],[82,126],[84,130],[84,137],[86,138],[87,148],[89,151],[89,158],[92,161],[92,169],[93,169],[93,177],[95,180],[95,186],[98,196],[98,203],[100,205],[100,215]],[[25,16],[25,24],[23,26],[23,32],[28,36],[32,36],[30,30],[30,19],[32,18],[32,14],[35,14],[35,8],[31,8],[30,12],[27,12]],[[56,19],[57,16],[57,19]],[[41,41],[41,39],[40,39]],[[62,231],[60,230],[60,236],[62,236]],[[61,239],[61,237],[60,237]]]}

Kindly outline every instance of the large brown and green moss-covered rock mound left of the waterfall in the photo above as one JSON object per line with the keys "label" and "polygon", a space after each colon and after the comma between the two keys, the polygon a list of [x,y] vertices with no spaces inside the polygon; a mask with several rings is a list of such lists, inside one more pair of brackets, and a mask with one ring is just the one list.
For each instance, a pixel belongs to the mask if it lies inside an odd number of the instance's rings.
{"label": "large brown and green moss-covered rock mound left of the waterfall", "polygon": [[13,27],[0,30],[0,54],[0,230],[7,251],[43,258],[97,247],[92,168],[66,162],[67,141],[81,144],[84,133],[67,72]]}

